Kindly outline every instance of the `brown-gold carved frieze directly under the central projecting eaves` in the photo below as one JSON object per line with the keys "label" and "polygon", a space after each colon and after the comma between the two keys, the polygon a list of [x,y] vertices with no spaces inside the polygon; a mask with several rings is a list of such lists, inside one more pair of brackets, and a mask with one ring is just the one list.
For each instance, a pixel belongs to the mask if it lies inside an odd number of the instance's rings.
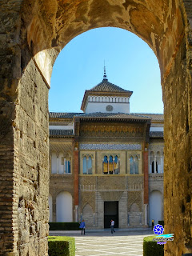
{"label": "brown-gold carved frieze directly under the central projecting eaves", "polygon": [[117,137],[129,136],[137,137],[143,136],[143,127],[142,126],[95,126],[95,125],[82,125],[80,128],[80,134],[83,135],[91,135],[91,136],[102,136],[109,137],[112,134]]}

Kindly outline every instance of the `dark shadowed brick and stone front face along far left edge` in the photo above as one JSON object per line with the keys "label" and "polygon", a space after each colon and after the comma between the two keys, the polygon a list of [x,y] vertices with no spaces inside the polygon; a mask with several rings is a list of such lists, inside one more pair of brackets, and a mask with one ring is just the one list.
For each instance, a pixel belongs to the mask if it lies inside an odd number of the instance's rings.
{"label": "dark shadowed brick and stone front face along far left edge", "polygon": [[[14,122],[15,104],[18,96],[17,83],[20,73],[17,32],[20,28],[20,3],[1,2],[0,14],[0,254],[6,255],[16,247],[18,235],[17,182],[14,173]],[[9,18],[7,17],[9,12]]]}

